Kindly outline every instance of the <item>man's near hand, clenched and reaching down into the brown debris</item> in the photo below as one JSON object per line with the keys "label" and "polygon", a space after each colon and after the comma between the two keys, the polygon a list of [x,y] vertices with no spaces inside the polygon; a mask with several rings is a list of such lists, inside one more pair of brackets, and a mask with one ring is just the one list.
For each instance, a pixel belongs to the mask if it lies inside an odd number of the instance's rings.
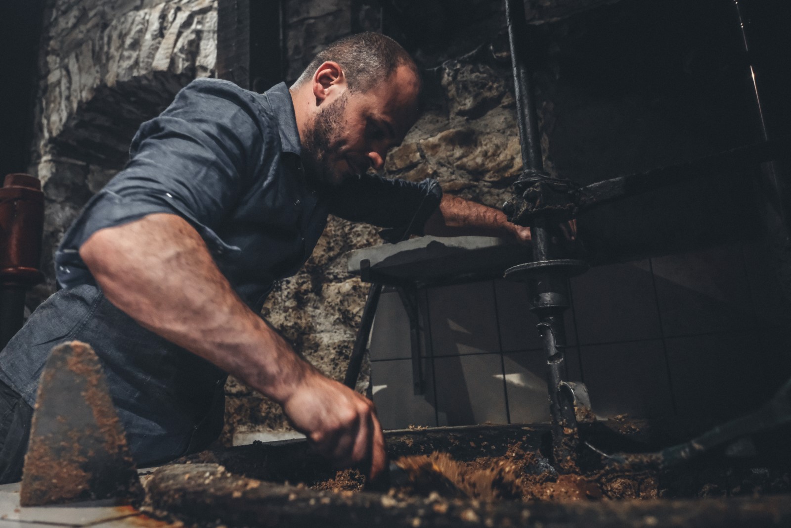
{"label": "man's near hand, clenched and reaching down into the brown debris", "polygon": [[373,402],[311,368],[282,403],[293,426],[316,450],[342,467],[369,468],[376,480],[387,464]]}

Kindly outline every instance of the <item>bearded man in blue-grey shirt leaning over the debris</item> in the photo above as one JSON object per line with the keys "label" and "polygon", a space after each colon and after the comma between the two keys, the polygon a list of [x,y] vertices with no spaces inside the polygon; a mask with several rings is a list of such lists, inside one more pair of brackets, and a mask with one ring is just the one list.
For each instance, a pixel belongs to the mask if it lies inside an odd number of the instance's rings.
{"label": "bearded man in blue-grey shirt leaning over the debris", "polygon": [[372,403],[326,378],[259,317],[307,260],[327,215],[410,234],[512,234],[500,211],[381,169],[418,117],[420,79],[374,33],[327,47],[287,89],[201,79],[143,123],[130,162],[55,257],[65,288],[0,353],[0,482],[15,481],[48,351],[96,349],[139,465],[199,450],[222,426],[228,374],[282,405],[339,465],[385,465]]}

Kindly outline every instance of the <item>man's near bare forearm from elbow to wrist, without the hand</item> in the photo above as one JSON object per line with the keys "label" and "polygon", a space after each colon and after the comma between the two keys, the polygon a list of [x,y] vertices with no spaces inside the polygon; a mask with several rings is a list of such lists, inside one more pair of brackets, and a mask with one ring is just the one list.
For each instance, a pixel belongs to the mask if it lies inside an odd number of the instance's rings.
{"label": "man's near bare forearm from elbow to wrist, without the hand", "polygon": [[312,368],[244,305],[179,216],[99,230],[80,256],[120,310],[274,401],[285,401]]}

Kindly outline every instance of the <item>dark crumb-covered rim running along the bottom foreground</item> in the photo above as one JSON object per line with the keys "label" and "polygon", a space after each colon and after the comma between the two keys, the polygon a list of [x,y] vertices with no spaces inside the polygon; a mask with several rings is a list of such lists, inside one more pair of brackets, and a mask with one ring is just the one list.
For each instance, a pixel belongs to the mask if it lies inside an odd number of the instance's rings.
{"label": "dark crumb-covered rim running along the bottom foreground", "polygon": [[489,503],[372,492],[316,492],[235,476],[215,464],[168,465],[153,507],[194,526],[789,526],[787,496],[706,500]]}

